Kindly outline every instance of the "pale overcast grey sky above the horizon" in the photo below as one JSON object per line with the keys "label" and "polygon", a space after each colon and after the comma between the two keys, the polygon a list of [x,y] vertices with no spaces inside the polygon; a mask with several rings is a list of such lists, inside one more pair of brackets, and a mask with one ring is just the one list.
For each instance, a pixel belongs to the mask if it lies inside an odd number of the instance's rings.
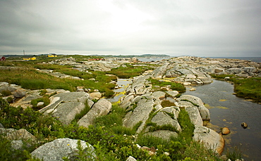
{"label": "pale overcast grey sky above the horizon", "polygon": [[0,0],[0,55],[261,56],[260,0]]}

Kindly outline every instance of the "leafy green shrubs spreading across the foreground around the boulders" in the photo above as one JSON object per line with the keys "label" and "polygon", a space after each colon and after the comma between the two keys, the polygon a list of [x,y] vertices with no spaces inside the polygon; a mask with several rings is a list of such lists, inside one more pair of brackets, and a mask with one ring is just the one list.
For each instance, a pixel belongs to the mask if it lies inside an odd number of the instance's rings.
{"label": "leafy green shrubs spreading across the foreground around the boulders", "polygon": [[[88,128],[79,127],[77,120],[63,125],[56,117],[44,116],[31,108],[14,108],[0,98],[0,123],[5,128],[26,129],[37,137],[32,146],[24,146],[23,150],[13,151],[11,141],[0,135],[1,160],[35,160],[30,153],[44,143],[59,138],[70,138],[86,141],[95,148],[95,160],[126,160],[130,155],[137,160],[219,160],[212,150],[207,150],[198,142],[193,142],[193,124],[188,114],[181,109],[178,122],[183,131],[178,138],[165,141],[152,136],[141,136],[135,141],[133,137],[136,127],[128,129],[122,126],[126,111],[115,106],[108,115],[98,117],[94,125]],[[138,127],[138,126],[137,126]],[[23,141],[24,145],[28,142]],[[157,154],[149,155],[135,144],[157,148]],[[169,153],[169,155],[165,155]],[[79,150],[78,158],[85,158]],[[66,160],[66,156],[64,157]]]}

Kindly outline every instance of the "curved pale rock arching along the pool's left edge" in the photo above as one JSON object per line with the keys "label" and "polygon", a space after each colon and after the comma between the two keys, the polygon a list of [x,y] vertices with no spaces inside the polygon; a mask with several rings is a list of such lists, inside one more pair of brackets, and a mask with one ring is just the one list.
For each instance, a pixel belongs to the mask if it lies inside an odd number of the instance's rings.
{"label": "curved pale rock arching along the pool's left edge", "polygon": [[205,107],[200,98],[191,95],[182,95],[180,98],[177,98],[177,101],[189,101],[193,103],[193,105],[198,107],[202,120],[210,120],[210,110]]}

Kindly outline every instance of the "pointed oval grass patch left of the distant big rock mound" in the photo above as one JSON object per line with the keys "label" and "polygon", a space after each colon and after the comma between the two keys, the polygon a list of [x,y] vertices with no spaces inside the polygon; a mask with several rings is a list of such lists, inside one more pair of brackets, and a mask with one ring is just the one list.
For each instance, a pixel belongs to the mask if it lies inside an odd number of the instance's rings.
{"label": "pointed oval grass patch left of the distant big rock mound", "polygon": [[119,78],[130,78],[130,77],[136,77],[145,72],[146,70],[152,70],[153,67],[150,67],[150,65],[147,66],[133,66],[130,64],[125,64],[126,67],[116,67],[111,69],[111,71],[108,71],[108,74],[116,75]]}

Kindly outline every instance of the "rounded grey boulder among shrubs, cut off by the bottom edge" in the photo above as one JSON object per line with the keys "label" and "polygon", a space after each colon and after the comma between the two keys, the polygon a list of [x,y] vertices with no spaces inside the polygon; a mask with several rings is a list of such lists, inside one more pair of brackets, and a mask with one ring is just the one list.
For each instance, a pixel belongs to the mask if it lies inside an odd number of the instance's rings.
{"label": "rounded grey boulder among shrubs, cut off by the bottom edge", "polygon": [[[94,160],[95,149],[85,141],[80,141],[80,146],[86,154],[86,160]],[[44,161],[60,161],[63,157],[68,157],[69,160],[77,159],[78,155],[78,140],[73,139],[56,139],[49,143],[45,143],[39,148],[32,151],[32,157],[37,157]]]}

